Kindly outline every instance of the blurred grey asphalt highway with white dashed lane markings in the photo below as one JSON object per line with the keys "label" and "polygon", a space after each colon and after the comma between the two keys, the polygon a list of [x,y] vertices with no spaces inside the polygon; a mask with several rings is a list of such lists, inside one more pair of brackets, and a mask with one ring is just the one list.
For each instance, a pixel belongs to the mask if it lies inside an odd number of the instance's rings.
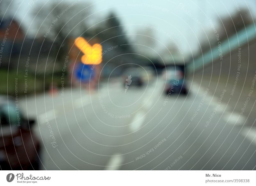
{"label": "blurred grey asphalt highway with white dashed lane markings", "polygon": [[65,89],[63,96],[20,100],[37,118],[41,169],[255,169],[255,140],[227,122],[220,97],[190,83],[188,96],[166,98],[164,84],[157,79],[124,93],[124,83],[116,80],[91,93]]}

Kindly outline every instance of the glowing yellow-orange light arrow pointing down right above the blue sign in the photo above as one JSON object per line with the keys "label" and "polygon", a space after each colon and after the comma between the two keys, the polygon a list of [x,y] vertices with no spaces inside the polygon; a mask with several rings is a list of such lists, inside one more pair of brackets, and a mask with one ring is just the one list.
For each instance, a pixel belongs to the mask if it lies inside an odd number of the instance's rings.
{"label": "glowing yellow-orange light arrow pointing down right above the blue sign", "polygon": [[81,50],[84,55],[81,58],[82,63],[86,65],[98,65],[102,62],[102,46],[98,43],[90,45],[83,37],[75,39],[76,47]]}

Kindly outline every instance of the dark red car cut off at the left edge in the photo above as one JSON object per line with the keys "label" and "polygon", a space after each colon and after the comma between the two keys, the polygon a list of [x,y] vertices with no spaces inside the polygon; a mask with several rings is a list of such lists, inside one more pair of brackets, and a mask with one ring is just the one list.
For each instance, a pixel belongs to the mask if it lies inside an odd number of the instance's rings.
{"label": "dark red car cut off at the left edge", "polygon": [[24,118],[18,105],[0,97],[0,169],[38,170],[40,143],[32,132],[34,120]]}

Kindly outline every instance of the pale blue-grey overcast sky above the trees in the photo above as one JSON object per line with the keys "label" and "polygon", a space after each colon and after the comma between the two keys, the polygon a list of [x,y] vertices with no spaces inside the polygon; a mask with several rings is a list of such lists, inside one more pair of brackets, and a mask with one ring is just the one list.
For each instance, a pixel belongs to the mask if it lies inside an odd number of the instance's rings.
{"label": "pale blue-grey overcast sky above the trees", "polygon": [[[40,4],[52,2],[47,0],[13,1],[18,7],[16,17],[20,21],[23,20],[23,24],[27,28],[33,19],[30,14],[31,10]],[[152,26],[154,38],[158,40],[155,45],[156,50],[161,50],[164,45],[175,41],[184,54],[195,50],[195,43],[197,39],[200,39],[203,29],[209,30],[210,28],[209,19],[216,24],[218,16],[229,16],[244,7],[249,7],[254,17],[256,14],[255,0],[129,0],[129,3],[122,0],[80,1],[93,3],[93,12],[99,11],[97,16],[102,18],[110,11],[116,12],[131,41],[134,40],[132,34],[136,34],[137,30]],[[29,6],[29,2],[34,2],[34,4]],[[35,27],[32,24],[29,33],[33,32],[35,32]]]}

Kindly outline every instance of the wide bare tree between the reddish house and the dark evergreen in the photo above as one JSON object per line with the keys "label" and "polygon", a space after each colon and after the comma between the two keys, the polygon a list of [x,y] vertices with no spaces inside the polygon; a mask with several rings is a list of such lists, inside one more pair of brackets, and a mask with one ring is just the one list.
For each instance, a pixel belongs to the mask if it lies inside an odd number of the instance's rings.
{"label": "wide bare tree between the reddish house and the dark evergreen", "polygon": [[51,3],[38,7],[33,14],[36,16],[38,37],[44,37],[55,43],[57,60],[63,58],[68,48],[68,39],[80,36],[86,30],[91,6],[77,3]]}

